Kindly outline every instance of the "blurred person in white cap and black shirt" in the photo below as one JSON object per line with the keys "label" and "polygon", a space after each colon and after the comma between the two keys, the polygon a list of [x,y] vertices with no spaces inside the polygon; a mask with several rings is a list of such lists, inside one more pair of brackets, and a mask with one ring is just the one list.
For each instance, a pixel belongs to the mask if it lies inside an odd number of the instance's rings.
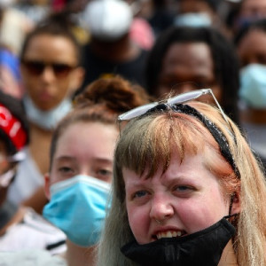
{"label": "blurred person in white cap and black shirt", "polygon": [[82,49],[85,76],[79,92],[109,74],[119,74],[145,86],[147,51],[131,38],[133,12],[129,4],[122,0],[95,0],[89,2],[84,12],[84,27],[89,30],[90,41]]}

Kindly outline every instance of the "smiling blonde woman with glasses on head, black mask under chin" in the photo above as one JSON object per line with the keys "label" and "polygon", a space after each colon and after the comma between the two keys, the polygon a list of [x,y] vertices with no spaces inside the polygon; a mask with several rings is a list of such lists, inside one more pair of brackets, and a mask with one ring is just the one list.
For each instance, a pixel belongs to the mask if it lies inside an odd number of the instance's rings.
{"label": "smiling blonde woman with glasses on head, black mask under chin", "polygon": [[98,265],[265,265],[262,164],[212,90],[168,96],[122,121]]}

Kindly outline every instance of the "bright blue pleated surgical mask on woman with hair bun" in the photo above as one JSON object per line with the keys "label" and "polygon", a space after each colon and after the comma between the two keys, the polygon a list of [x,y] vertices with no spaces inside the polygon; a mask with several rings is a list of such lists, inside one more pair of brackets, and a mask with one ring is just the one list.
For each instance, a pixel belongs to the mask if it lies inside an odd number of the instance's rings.
{"label": "bright blue pleated surgical mask on woman with hair bun", "polygon": [[98,242],[106,217],[110,184],[91,176],[74,176],[51,185],[43,216],[78,246]]}

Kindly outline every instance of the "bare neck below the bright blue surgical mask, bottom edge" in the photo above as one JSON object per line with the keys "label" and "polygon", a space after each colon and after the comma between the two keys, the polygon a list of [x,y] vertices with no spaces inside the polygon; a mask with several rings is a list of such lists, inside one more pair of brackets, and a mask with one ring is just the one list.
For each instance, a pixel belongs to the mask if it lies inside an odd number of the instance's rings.
{"label": "bare neck below the bright blue surgical mask, bottom edge", "polygon": [[77,246],[66,239],[66,254],[64,254],[68,266],[96,265],[95,247]]}

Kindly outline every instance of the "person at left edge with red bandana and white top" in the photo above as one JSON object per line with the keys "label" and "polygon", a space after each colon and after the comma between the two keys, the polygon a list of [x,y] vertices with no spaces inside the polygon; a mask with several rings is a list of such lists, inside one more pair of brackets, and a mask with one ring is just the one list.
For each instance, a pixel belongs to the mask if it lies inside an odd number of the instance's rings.
{"label": "person at left edge with red bandana and white top", "polygon": [[31,208],[17,207],[6,198],[25,158],[28,133],[20,101],[0,91],[0,252],[46,249],[56,254],[66,249],[65,234]]}

